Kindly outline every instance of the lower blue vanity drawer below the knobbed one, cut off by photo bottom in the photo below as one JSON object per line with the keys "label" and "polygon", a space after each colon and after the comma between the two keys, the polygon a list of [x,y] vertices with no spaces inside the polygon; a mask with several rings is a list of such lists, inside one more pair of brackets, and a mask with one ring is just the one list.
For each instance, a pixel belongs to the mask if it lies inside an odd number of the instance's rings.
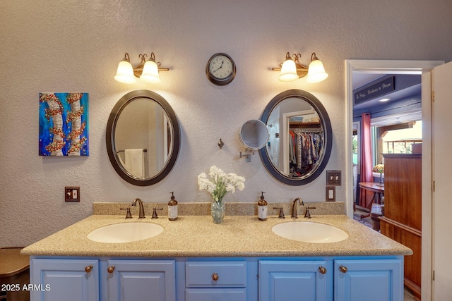
{"label": "lower blue vanity drawer below the knobbed one, cut off by photo bottom", "polygon": [[246,288],[186,288],[185,301],[246,301]]}

